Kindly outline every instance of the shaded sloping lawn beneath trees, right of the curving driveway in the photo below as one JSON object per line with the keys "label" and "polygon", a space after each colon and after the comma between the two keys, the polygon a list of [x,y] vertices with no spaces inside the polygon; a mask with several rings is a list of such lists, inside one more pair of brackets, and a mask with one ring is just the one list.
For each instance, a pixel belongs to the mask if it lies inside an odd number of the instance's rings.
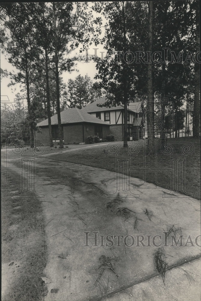
{"label": "shaded sloping lawn beneath trees, right of the curving driveway", "polygon": [[[170,167],[170,155],[162,154],[160,150],[160,141],[157,140],[156,156],[147,156],[147,145],[145,147],[143,141],[137,141],[140,146],[140,152],[137,155],[131,155],[131,167],[140,167],[145,164],[146,167],[155,166],[157,161],[158,167]],[[185,191],[186,193],[193,194],[196,199],[200,200],[200,138],[182,137],[168,139],[168,142],[176,142],[174,155],[181,155],[181,147],[186,142],[190,142],[194,146],[192,154],[185,155]],[[146,140],[147,143],[147,140]],[[114,142],[115,144],[115,142]],[[132,143],[131,143],[132,144]],[[107,145],[99,145],[94,148],[86,148],[64,154],[52,155],[51,159],[62,160],[66,162],[79,163],[98,168],[116,171],[115,155],[109,154],[106,151]],[[120,154],[127,154],[126,149],[120,147]],[[132,172],[132,177],[141,178],[146,182],[167,185],[170,188],[170,172]],[[180,190],[179,190],[180,191]],[[182,193],[182,191],[180,191]]]}

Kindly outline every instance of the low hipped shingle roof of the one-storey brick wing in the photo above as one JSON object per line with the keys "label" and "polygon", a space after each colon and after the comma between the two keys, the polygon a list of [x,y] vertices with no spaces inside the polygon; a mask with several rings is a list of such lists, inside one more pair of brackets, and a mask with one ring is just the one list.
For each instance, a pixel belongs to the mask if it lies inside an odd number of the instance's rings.
{"label": "low hipped shingle roof of the one-storey brick wing", "polygon": [[[87,112],[84,112],[78,108],[69,108],[61,112],[61,123],[100,123],[104,125],[109,125],[107,122],[91,116]],[[57,114],[51,117],[51,124],[58,124]],[[37,126],[48,126],[48,119],[45,119],[37,124]]]}

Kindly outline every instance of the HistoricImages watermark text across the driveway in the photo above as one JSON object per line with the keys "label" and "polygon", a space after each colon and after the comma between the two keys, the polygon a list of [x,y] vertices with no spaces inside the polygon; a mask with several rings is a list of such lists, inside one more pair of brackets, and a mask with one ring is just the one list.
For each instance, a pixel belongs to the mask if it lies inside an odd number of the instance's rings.
{"label": "HistoricImages watermark text across the driveway", "polygon": [[108,234],[102,235],[98,231],[84,232],[84,247],[201,247],[201,235],[169,235],[164,231],[156,235]]}

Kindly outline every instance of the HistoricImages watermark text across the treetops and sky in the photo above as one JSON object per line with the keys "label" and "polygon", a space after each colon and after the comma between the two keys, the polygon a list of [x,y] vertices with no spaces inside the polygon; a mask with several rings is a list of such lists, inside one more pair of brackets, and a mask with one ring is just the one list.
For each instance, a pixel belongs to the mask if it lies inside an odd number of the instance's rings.
{"label": "HistoricImages watermark text across the treetops and sky", "polygon": [[117,61],[121,62],[122,60],[127,64],[154,64],[166,63],[166,58],[169,58],[169,63],[180,63],[180,64],[189,64],[201,63],[201,51],[192,53],[188,51],[171,51],[170,48],[162,48],[162,50],[154,51],[98,51],[99,48],[86,48],[85,49],[85,61],[99,61],[101,62],[112,62]]}

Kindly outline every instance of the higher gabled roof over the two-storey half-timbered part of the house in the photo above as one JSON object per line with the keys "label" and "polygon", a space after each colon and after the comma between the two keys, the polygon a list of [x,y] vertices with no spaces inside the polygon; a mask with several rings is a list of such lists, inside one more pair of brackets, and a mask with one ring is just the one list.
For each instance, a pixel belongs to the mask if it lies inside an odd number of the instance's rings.
{"label": "higher gabled roof over the two-storey half-timbered part of the house", "polygon": [[[98,107],[97,104],[104,104],[106,102],[106,98],[102,97],[98,99],[97,101],[92,102],[91,104],[88,104],[86,107],[82,108],[81,111],[87,112],[87,113],[94,113],[94,112],[102,112],[102,111],[113,111],[113,110],[122,110],[124,106],[120,104],[119,106],[116,107]],[[139,113],[142,112],[142,101],[135,102],[135,103],[130,103],[128,110]]]}

